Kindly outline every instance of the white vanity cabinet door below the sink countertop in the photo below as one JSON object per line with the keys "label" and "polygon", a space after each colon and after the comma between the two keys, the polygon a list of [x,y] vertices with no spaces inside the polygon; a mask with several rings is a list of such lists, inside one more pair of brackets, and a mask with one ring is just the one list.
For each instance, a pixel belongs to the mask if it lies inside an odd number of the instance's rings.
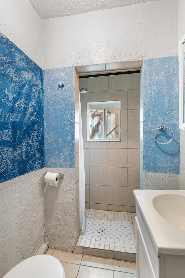
{"label": "white vanity cabinet door below the sink countertop", "polygon": [[156,278],[137,217],[136,243],[137,278]]}

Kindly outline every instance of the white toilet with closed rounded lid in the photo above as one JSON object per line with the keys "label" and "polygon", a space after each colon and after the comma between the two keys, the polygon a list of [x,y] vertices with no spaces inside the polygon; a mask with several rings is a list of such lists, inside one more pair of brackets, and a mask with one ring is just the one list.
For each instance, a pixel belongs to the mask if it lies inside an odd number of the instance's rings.
{"label": "white toilet with closed rounded lid", "polygon": [[65,278],[60,261],[50,255],[36,255],[12,268],[3,278]]}

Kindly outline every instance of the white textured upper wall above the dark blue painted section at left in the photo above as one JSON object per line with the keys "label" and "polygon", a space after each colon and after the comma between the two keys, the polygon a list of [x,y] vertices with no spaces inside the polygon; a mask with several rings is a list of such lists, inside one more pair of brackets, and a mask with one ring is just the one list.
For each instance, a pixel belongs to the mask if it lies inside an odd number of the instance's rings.
{"label": "white textured upper wall above the dark blue painted section at left", "polygon": [[42,20],[28,0],[0,1],[0,32],[42,68]]}

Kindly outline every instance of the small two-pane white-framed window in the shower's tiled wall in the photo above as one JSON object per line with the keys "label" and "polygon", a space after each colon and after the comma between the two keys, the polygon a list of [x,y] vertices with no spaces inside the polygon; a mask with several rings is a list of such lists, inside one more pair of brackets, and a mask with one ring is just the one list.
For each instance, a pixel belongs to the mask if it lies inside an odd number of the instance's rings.
{"label": "small two-pane white-framed window in the shower's tiled wall", "polygon": [[119,101],[87,104],[87,140],[120,141]]}

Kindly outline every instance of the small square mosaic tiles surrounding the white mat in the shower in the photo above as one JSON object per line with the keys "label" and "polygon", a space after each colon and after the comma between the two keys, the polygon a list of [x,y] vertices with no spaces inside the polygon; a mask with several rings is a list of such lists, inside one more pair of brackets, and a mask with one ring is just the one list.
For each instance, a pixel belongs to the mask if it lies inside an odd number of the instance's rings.
{"label": "small square mosaic tiles surrounding the white mat in the shower", "polygon": [[108,238],[80,235],[77,241],[77,246],[136,254],[135,216],[136,213],[85,209],[85,218],[87,220],[129,221],[134,238],[133,240],[124,240],[120,237],[118,239],[117,237]]}

